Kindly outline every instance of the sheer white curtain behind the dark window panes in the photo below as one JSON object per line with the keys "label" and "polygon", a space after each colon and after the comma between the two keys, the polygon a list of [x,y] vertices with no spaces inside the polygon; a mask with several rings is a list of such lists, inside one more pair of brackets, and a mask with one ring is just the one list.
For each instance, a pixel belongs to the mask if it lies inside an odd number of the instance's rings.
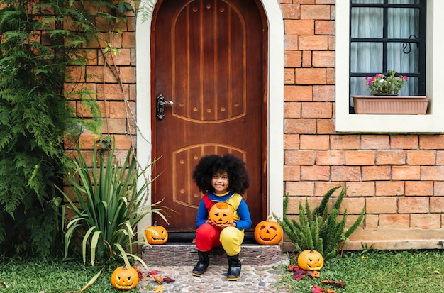
{"label": "sheer white curtain behind the dark window panes", "polygon": [[[384,3],[383,0],[353,0],[353,3]],[[389,0],[389,4],[414,4],[415,0]],[[352,38],[382,38],[382,8],[354,8],[351,13]],[[387,38],[418,38],[418,9],[395,9],[387,11]],[[357,42],[350,46],[351,72],[382,72],[382,43]],[[418,48],[414,43],[388,43],[387,70],[397,72],[418,72]],[[408,74],[406,74],[409,76]],[[416,78],[404,83],[400,95],[416,95]],[[350,94],[370,94],[365,87],[364,77],[350,79]]]}

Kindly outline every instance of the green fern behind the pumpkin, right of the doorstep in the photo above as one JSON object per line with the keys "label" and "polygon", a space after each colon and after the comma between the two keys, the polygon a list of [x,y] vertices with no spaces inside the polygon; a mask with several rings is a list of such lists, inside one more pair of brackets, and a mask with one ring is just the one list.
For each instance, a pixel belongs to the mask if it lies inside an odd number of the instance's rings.
{"label": "green fern behind the pumpkin, right of the doorstep", "polygon": [[305,201],[305,209],[302,201],[299,202],[299,223],[294,219],[289,219],[287,216],[287,208],[289,202],[289,195],[284,198],[284,216],[280,219],[276,214],[273,214],[277,223],[282,226],[284,232],[289,236],[299,253],[303,250],[317,250],[323,255],[324,260],[333,257],[338,249],[338,246],[356,230],[364,218],[365,206],[362,207],[360,216],[356,219],[350,228],[345,228],[347,221],[347,211],[343,213],[343,217],[338,221],[340,204],[342,204],[343,197],[347,189],[342,188],[340,194],[333,203],[331,211],[328,211],[328,201],[331,199],[333,193],[339,189],[340,186],[333,187],[324,194],[321,204],[311,211],[309,201]]}

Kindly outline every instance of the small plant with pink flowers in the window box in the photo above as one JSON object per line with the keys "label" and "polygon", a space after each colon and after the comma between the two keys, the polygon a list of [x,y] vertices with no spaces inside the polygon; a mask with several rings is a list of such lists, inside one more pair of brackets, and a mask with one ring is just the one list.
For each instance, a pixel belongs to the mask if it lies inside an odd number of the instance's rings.
{"label": "small plant with pink flowers in the window box", "polygon": [[378,73],[374,77],[365,77],[365,85],[373,94],[398,94],[409,77],[403,75],[396,77],[397,73],[395,70],[387,70],[385,74]]}

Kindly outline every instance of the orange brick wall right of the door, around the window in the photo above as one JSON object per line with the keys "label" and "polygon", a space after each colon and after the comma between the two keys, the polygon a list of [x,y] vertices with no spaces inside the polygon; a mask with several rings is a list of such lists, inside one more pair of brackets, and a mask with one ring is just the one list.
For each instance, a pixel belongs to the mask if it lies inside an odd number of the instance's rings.
{"label": "orange brick wall right of the door, around the window", "polygon": [[[346,248],[442,248],[443,135],[335,133],[335,1],[281,0],[284,17],[284,186],[288,214],[348,187]],[[347,77],[345,77],[347,78]],[[286,240],[285,246],[292,249]]]}

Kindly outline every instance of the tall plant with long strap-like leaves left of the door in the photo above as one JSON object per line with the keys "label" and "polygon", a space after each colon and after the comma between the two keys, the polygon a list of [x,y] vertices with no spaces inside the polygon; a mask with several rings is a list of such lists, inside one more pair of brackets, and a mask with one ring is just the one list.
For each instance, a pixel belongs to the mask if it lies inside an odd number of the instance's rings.
{"label": "tall plant with long strap-like leaves left of the door", "polygon": [[160,209],[153,209],[159,203],[143,206],[146,189],[152,181],[142,180],[143,184],[138,185],[144,170],[138,170],[132,150],[128,150],[125,160],[119,161],[114,146],[100,152],[94,148],[92,167],[80,150],[77,157],[72,161],[74,168],[66,174],[77,202],[59,189],[69,203],[67,209],[74,212],[66,226],[65,257],[70,245],[77,243],[74,239],[79,239],[84,263],[87,255],[91,265],[106,262],[115,255],[121,256],[128,266],[128,256],[143,262],[133,253],[133,245],[147,243],[145,237],[134,240],[137,224],[150,213],[159,214],[167,222]]}

